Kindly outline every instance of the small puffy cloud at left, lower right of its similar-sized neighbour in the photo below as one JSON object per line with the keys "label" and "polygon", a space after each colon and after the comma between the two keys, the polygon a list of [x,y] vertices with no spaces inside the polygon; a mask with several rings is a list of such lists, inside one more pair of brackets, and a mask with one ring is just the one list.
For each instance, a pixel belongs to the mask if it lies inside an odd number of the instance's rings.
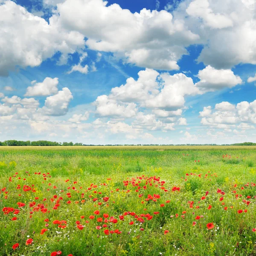
{"label": "small puffy cloud at left, lower right of its similar-sized neighbour", "polygon": [[71,99],[73,99],[72,93],[67,87],[64,87],[57,94],[46,98],[42,111],[50,116],[65,115]]}

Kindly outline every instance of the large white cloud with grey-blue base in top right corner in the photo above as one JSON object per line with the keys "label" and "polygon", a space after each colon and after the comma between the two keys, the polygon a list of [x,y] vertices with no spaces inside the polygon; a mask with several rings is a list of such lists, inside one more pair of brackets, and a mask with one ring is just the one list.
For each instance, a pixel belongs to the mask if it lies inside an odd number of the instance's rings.
{"label": "large white cloud with grey-blue base in top right corner", "polygon": [[[190,3],[201,3],[201,8],[191,10],[186,19],[189,28],[200,35],[204,44],[199,62],[216,69],[230,69],[240,63],[256,64],[255,11],[244,5],[246,1],[195,0]],[[204,3],[209,3],[209,7],[204,8]],[[196,15],[197,12],[200,14]],[[184,11],[182,17],[185,18]]]}

